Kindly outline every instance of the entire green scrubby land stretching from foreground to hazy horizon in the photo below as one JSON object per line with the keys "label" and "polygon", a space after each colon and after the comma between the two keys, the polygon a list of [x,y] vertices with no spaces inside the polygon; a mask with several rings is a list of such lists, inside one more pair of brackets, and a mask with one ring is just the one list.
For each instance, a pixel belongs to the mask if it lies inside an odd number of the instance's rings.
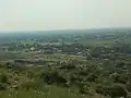
{"label": "entire green scrubby land stretching from foreground to hazy horizon", "polygon": [[0,37],[0,98],[131,98],[131,30],[86,32]]}

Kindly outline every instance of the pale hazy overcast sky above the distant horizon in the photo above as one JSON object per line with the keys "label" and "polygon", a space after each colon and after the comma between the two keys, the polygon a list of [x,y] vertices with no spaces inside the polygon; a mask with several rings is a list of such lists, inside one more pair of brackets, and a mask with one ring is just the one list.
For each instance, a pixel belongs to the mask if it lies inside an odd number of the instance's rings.
{"label": "pale hazy overcast sky above the distant horizon", "polygon": [[131,0],[0,0],[0,30],[131,27]]}

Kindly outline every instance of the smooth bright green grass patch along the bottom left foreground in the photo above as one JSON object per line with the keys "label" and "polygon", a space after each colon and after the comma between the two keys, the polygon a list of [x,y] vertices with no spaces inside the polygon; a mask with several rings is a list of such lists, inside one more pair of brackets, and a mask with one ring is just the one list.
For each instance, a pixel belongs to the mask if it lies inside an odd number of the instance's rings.
{"label": "smooth bright green grass patch along the bottom left foreground", "polygon": [[49,86],[50,90],[37,91],[34,90],[17,90],[17,91],[1,91],[0,98],[82,98],[82,96],[69,93],[68,89]]}

